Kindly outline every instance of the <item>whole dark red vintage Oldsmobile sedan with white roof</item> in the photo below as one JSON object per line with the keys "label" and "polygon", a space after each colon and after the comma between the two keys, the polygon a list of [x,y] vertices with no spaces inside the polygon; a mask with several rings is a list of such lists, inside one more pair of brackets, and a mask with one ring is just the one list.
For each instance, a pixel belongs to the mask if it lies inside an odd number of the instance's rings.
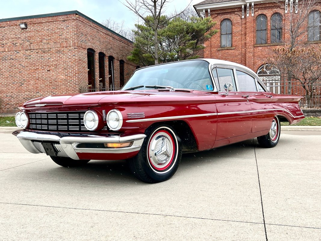
{"label": "whole dark red vintage Oldsmobile sedan with white roof", "polygon": [[58,165],[127,159],[138,179],[156,183],[176,172],[183,152],[255,137],[275,147],[280,121],[304,118],[301,98],[269,92],[236,63],[186,60],[138,69],[120,91],[30,100],[13,134]]}

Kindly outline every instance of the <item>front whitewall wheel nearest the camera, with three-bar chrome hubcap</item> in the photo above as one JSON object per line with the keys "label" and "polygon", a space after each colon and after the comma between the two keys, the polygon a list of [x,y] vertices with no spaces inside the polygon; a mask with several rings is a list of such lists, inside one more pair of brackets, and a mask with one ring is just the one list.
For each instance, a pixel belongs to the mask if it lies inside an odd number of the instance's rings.
{"label": "front whitewall wheel nearest the camera, with three-bar chrome hubcap", "polygon": [[181,158],[182,145],[175,130],[160,125],[147,131],[141,150],[129,160],[129,168],[139,180],[159,183],[175,174]]}

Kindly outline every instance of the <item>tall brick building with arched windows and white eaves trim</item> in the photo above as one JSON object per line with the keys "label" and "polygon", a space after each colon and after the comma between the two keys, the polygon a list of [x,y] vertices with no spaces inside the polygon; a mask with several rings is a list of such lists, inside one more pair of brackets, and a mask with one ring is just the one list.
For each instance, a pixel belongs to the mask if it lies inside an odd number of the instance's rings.
{"label": "tall brick building with arched windows and white eaves trim", "polygon": [[[199,16],[212,17],[220,31],[205,42],[204,57],[219,58],[245,65],[259,74],[274,93],[282,93],[284,86],[277,69],[266,67],[272,48],[289,41],[289,15],[298,16],[301,0],[205,0],[194,5]],[[308,13],[300,26],[306,30],[305,43],[318,48],[321,44],[321,1]],[[299,5],[300,6],[300,5]],[[297,15],[296,15],[297,14]],[[309,31],[308,31],[309,26]],[[321,86],[321,84],[320,84]],[[294,92],[292,94],[302,94]],[[302,88],[301,88],[302,89]],[[318,97],[320,99],[320,96]]]}

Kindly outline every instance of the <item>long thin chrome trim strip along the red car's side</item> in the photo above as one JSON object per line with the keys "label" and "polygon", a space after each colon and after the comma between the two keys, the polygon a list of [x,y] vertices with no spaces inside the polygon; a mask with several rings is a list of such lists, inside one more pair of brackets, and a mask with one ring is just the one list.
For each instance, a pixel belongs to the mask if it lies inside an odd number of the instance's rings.
{"label": "long thin chrome trim strip along the red car's side", "polygon": [[130,122],[142,122],[142,121],[175,120],[175,119],[181,119],[181,118],[192,118],[192,117],[213,116],[213,115],[231,115],[231,114],[255,113],[255,112],[265,112],[265,111],[285,111],[285,112],[288,112],[293,118],[299,118],[304,116],[304,115],[294,116],[291,112],[284,109],[265,109],[265,110],[254,110],[254,111],[237,111],[237,112],[221,112],[221,113],[208,113],[208,114],[198,114],[198,115],[169,116],[169,117],[159,117],[159,118],[128,120],[126,122],[130,123]]}

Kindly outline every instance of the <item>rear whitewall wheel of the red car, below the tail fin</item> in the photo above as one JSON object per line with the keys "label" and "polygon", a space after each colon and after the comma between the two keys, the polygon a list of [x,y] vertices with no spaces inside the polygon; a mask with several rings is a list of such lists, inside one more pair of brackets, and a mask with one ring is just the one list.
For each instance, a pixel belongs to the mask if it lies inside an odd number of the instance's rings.
{"label": "rear whitewall wheel of the red car, below the tail fin", "polygon": [[277,116],[274,116],[269,133],[267,133],[265,136],[259,136],[257,138],[257,141],[259,142],[261,147],[275,147],[279,142],[280,133],[280,120]]}

